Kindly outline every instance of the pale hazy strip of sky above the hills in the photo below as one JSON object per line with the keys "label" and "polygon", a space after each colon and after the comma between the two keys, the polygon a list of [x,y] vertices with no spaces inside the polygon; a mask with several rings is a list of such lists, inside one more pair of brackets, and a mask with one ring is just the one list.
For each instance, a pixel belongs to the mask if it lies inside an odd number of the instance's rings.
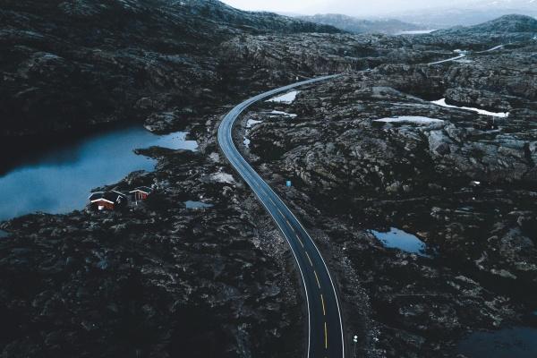
{"label": "pale hazy strip of sky above the hills", "polygon": [[[244,10],[268,10],[289,13],[345,13],[349,15],[374,15],[396,13],[430,7],[472,4],[513,4],[524,0],[223,0]],[[529,0],[528,0],[529,1]]]}

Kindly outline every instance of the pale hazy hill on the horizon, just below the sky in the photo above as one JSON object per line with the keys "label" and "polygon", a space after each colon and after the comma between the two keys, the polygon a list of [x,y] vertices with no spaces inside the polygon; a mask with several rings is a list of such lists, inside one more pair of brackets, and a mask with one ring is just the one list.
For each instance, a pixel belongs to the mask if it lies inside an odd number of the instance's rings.
{"label": "pale hazy hill on the horizon, just below the sky", "polygon": [[301,16],[299,19],[319,24],[334,26],[337,29],[351,33],[387,33],[396,34],[400,31],[422,30],[422,27],[398,20],[362,20],[353,16],[337,13],[317,14],[314,16]]}

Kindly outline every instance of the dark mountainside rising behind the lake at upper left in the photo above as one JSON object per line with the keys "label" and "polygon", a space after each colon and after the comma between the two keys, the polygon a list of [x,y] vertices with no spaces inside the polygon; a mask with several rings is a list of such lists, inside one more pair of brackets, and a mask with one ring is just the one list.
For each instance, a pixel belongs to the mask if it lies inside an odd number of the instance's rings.
{"label": "dark mountainside rising behind the lake at upper left", "polygon": [[222,78],[214,49],[222,41],[337,32],[216,0],[8,0],[0,23],[2,137],[214,102]]}

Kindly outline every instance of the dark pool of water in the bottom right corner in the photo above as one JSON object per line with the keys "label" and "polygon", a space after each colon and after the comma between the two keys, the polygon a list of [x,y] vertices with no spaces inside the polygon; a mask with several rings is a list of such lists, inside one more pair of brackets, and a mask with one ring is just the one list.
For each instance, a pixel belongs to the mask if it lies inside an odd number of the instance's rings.
{"label": "dark pool of water in the bottom right corner", "polygon": [[457,345],[467,358],[535,358],[537,328],[513,327],[496,332],[473,332]]}

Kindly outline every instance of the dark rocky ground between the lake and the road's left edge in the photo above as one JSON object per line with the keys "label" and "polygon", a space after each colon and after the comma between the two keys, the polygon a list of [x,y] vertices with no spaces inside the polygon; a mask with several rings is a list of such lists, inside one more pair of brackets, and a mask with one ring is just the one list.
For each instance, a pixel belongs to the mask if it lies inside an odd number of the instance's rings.
{"label": "dark rocky ground between the lake and the road's left edge", "polygon": [[141,150],[158,171],[115,189],[156,193],[124,211],[5,224],[2,356],[300,355],[304,303],[290,253],[209,149]]}

